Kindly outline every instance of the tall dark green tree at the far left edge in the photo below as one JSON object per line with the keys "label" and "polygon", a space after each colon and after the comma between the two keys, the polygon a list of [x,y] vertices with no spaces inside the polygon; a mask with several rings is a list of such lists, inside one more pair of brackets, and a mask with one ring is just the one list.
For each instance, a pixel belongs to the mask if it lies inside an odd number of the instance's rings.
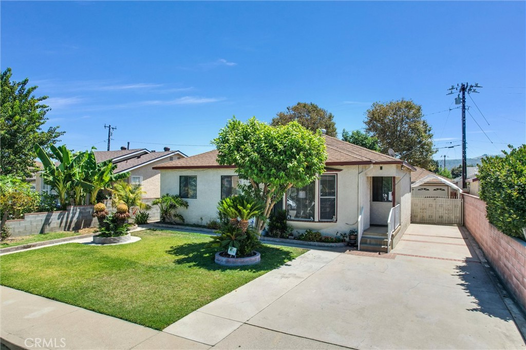
{"label": "tall dark green tree at the far left edge", "polygon": [[30,177],[35,172],[35,144],[48,150],[64,132],[59,126],[43,131],[41,126],[48,120],[50,110],[41,102],[47,96],[35,97],[36,86],[26,87],[28,79],[11,81],[12,71],[2,72],[2,97],[0,107],[1,168],[5,175]]}

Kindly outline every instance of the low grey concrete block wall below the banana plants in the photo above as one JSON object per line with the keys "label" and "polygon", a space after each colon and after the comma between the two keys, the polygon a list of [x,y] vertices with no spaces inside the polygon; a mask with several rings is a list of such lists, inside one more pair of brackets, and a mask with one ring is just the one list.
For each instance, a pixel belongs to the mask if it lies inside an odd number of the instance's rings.
{"label": "low grey concrete block wall below the banana plants", "polygon": [[[144,198],[151,205],[155,198]],[[107,210],[112,213],[112,201],[105,201]],[[7,220],[12,237],[38,235],[57,231],[74,231],[98,225],[97,218],[92,217],[93,205],[69,206],[66,210],[49,211],[47,213],[25,214],[23,219]],[[152,206],[148,210],[150,221],[159,221],[159,207]],[[132,215],[133,217],[133,215]]]}

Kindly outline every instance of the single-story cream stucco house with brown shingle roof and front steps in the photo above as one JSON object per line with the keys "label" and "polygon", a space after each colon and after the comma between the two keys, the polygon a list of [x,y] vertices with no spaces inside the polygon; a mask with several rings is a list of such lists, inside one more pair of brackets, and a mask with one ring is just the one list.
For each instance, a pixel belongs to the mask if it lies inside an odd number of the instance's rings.
{"label": "single-story cream stucco house with brown shingle roof and front steps", "polygon": [[[328,156],[325,173],[305,187],[290,188],[277,204],[287,210],[290,225],[325,235],[380,225],[380,234],[387,235],[381,231],[387,231],[391,215],[400,222],[399,239],[410,222],[411,172],[416,169],[397,158],[323,137]],[[161,193],[188,201],[188,209],[179,209],[186,222],[206,224],[216,219],[218,201],[236,192],[236,169],[219,165],[217,154],[214,150],[154,166],[161,174]]]}

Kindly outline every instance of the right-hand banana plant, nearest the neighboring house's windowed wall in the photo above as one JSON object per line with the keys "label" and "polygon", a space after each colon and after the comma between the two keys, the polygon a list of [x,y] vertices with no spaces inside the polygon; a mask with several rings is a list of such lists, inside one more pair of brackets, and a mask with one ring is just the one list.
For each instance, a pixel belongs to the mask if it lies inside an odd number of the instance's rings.
{"label": "right-hand banana plant, nearest the neighboring house's windowed wall", "polygon": [[89,193],[89,203],[97,203],[97,193],[99,190],[109,189],[110,185],[119,180],[124,180],[130,176],[129,172],[114,174],[117,165],[114,165],[111,160],[107,160],[97,164],[95,153],[89,152],[84,163],[85,176],[93,188]]}

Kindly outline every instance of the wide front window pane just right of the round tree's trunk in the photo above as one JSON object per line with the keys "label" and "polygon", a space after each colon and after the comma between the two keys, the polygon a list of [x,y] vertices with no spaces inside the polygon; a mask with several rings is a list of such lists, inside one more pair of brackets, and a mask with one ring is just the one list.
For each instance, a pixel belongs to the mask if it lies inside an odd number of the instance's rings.
{"label": "wide front window pane just right of the round tree's trunk", "polygon": [[291,187],[287,190],[287,218],[289,220],[314,221],[315,182],[305,187]]}

